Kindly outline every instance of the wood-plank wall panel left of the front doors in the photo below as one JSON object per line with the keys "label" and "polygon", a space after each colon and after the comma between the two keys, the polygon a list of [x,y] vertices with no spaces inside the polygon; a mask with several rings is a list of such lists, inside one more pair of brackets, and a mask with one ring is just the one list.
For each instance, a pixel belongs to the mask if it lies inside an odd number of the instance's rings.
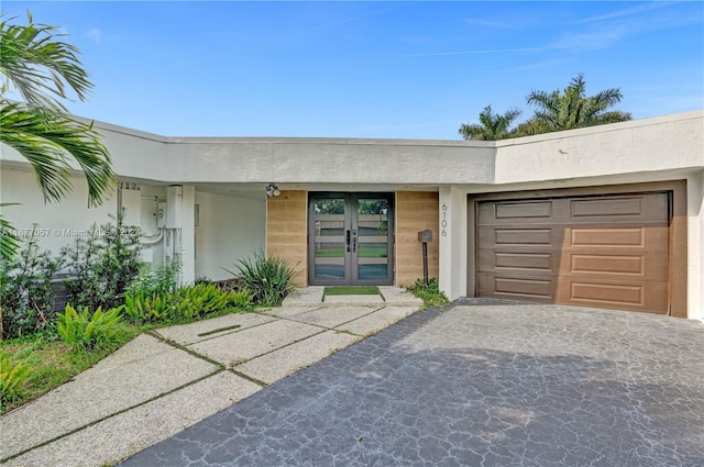
{"label": "wood-plank wall panel left of the front doors", "polygon": [[307,200],[302,190],[282,191],[266,200],[266,254],[288,259],[298,287],[307,285]]}

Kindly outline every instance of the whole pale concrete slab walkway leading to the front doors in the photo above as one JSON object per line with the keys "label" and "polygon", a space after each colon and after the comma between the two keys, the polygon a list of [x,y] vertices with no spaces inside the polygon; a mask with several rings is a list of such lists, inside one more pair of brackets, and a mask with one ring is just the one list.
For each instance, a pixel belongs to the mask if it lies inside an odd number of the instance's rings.
{"label": "whole pale concrete slab walkway leading to the front doors", "polygon": [[0,463],[113,465],[418,310],[409,293],[334,297],[143,334],[0,418]]}

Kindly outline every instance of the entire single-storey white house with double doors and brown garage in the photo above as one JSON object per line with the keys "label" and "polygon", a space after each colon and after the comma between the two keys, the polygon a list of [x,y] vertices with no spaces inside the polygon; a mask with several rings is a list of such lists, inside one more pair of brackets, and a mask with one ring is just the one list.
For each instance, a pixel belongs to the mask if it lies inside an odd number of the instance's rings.
{"label": "entire single-storey white house with double doors and brown garage", "polygon": [[230,277],[262,248],[297,285],[410,285],[704,319],[704,112],[498,142],[166,137],[95,122],[119,189],[44,204],[2,147],[1,199],[52,249],[124,208],[144,259]]}

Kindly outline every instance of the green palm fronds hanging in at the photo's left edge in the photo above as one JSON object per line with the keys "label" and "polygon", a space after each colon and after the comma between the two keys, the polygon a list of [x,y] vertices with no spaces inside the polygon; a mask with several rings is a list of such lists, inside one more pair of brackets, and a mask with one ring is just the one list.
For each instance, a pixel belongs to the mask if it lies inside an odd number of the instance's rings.
{"label": "green palm fronds hanging in at the photo's left edge", "polygon": [[[70,191],[72,162],[88,184],[88,204],[110,197],[114,178],[108,149],[91,125],[73,119],[62,103],[67,90],[81,101],[92,88],[78,59],[78,49],[61,42],[54,26],[0,22],[0,143],[32,165],[44,200],[58,201]],[[22,101],[9,100],[15,90]],[[7,205],[7,204],[6,204]],[[0,219],[0,254],[13,256],[18,238]]]}

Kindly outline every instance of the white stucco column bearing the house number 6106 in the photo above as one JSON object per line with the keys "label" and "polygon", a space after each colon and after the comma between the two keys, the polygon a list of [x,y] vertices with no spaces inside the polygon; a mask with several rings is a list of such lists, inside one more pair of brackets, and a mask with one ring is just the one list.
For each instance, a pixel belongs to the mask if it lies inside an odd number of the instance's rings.
{"label": "white stucco column bearing the house number 6106", "polygon": [[440,187],[440,290],[450,300],[466,296],[466,194]]}

